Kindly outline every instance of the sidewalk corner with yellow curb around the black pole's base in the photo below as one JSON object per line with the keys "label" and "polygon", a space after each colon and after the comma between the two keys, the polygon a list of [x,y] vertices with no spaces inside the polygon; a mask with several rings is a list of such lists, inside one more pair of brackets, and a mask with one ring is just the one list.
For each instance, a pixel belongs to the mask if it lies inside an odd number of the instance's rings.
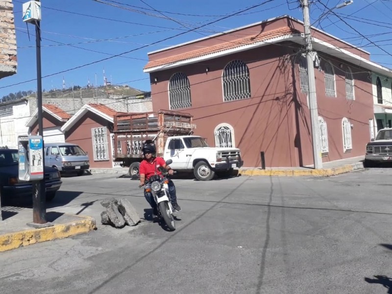
{"label": "sidewalk corner with yellow curb around the black pole's base", "polygon": [[87,233],[96,229],[91,217],[69,215],[61,212],[47,212],[47,221],[52,225],[33,228],[27,223],[33,221],[32,208],[1,207],[3,221],[0,221],[0,252],[72,235]]}

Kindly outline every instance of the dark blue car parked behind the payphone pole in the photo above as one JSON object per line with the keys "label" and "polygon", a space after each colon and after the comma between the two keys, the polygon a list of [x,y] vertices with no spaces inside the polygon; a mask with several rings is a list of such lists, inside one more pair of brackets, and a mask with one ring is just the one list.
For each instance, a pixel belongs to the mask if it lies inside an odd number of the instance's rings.
{"label": "dark blue car parked behind the payphone pole", "polygon": [[[2,200],[32,199],[32,183],[19,180],[18,157],[18,149],[0,149],[0,195]],[[61,187],[61,175],[59,171],[51,167],[45,167],[44,172],[46,200],[51,201]]]}

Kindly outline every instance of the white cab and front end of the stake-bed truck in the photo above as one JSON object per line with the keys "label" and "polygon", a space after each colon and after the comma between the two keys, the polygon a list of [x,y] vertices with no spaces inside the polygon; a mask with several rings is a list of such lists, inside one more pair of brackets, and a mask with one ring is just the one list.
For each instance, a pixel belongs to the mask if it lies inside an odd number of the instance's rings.
{"label": "white cab and front end of the stake-bed truck", "polygon": [[240,149],[209,147],[199,136],[168,137],[163,158],[172,159],[173,170],[193,171],[200,181],[211,180],[216,172],[229,175],[243,165]]}

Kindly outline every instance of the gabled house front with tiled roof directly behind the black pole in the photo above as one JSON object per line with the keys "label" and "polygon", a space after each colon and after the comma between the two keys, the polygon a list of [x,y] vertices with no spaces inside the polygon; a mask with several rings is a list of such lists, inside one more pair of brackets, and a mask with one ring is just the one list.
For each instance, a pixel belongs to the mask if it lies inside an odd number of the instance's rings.
{"label": "gabled house front with tiled roof directly behind the black pole", "polygon": [[[42,105],[42,121],[45,143],[65,142],[61,127],[71,118],[71,115],[54,104]],[[29,134],[37,135],[38,132],[38,109],[27,120],[26,126]]]}

